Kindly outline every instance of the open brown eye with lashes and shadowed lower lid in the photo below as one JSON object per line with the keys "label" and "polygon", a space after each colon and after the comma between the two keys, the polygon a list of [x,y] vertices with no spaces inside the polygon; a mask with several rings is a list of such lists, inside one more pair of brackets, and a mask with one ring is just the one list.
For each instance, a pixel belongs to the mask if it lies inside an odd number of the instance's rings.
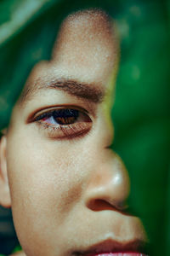
{"label": "open brown eye with lashes and shadowed lower lid", "polygon": [[[61,124],[65,120],[66,124]],[[82,108],[53,108],[49,111],[37,113],[33,121],[37,122],[37,125],[47,132],[48,137],[56,139],[82,137],[92,127],[92,119],[90,119],[87,111]]]}

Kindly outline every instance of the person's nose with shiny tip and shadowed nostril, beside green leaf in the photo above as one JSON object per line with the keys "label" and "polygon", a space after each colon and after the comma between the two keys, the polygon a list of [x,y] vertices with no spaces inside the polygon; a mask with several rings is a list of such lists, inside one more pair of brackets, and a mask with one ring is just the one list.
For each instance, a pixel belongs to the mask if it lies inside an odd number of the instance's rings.
{"label": "person's nose with shiny tip and shadowed nostril, beside green leaf", "polygon": [[86,189],[86,206],[93,211],[124,211],[130,185],[122,160],[106,148],[105,156],[100,157],[99,165],[94,169]]}

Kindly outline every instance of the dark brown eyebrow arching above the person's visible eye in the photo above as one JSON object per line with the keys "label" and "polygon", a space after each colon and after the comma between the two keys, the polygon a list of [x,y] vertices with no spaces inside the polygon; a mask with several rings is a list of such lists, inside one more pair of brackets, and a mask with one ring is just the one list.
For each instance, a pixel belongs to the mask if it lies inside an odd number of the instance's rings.
{"label": "dark brown eyebrow arching above the person's visible eye", "polygon": [[77,96],[77,98],[86,99],[94,103],[102,102],[105,97],[104,88],[96,83],[88,84],[75,79],[54,79],[44,83],[37,79],[34,86],[31,86],[31,84],[26,85],[20,95],[20,103],[26,103],[32,96],[36,96],[38,91],[47,89],[63,90],[71,96]]}

